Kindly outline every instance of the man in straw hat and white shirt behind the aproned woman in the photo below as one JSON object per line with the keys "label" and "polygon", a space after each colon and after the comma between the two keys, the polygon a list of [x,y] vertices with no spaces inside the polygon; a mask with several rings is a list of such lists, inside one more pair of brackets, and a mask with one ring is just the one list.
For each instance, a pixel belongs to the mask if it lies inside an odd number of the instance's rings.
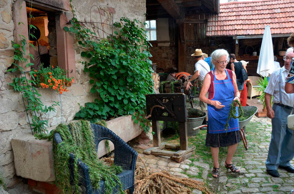
{"label": "man in straw hat and white shirt behind the aproned woman", "polygon": [[[210,67],[207,62],[204,61],[203,55],[206,55],[205,53],[202,52],[201,49],[196,49],[195,52],[191,55],[192,57],[195,57],[196,63],[195,63],[195,71],[194,75],[188,80],[186,90],[190,89],[192,84],[191,81],[194,79],[198,78],[198,83],[199,83],[199,89],[201,91],[202,86],[203,86],[203,80],[205,75],[210,71]],[[208,98],[208,93],[206,93],[206,97]],[[207,104],[200,101],[200,107],[202,111],[205,111],[207,113]],[[208,118],[206,115],[205,118],[205,125],[208,123]],[[207,129],[207,127],[201,128],[203,130]]]}

